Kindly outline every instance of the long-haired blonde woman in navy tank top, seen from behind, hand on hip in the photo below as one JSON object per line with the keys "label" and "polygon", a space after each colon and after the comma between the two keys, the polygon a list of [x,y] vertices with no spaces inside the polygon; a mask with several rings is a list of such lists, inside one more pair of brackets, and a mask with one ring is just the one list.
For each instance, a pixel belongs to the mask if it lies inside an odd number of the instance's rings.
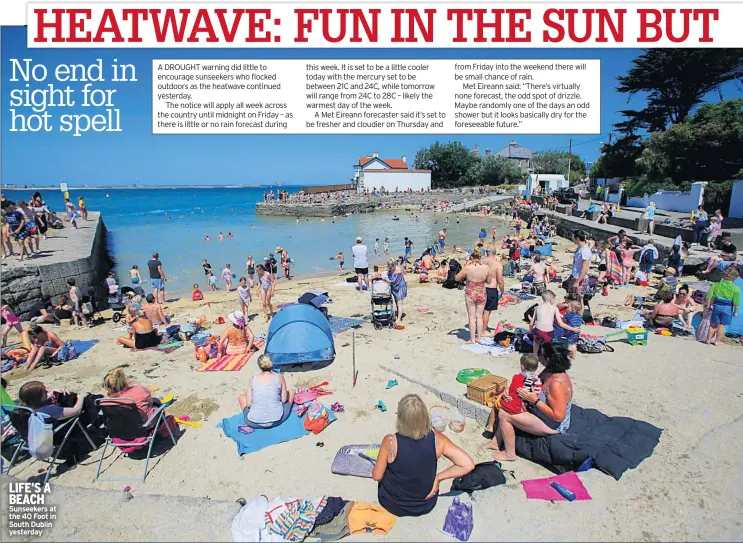
{"label": "long-haired blonde woman in navy tank top, seen from behind, hand on hip", "polygon": [[[436,473],[442,456],[453,465]],[[397,433],[382,439],[372,478],[379,483],[382,507],[398,517],[418,517],[436,506],[441,481],[463,477],[474,467],[466,452],[431,429],[423,400],[408,394],[397,404]]]}

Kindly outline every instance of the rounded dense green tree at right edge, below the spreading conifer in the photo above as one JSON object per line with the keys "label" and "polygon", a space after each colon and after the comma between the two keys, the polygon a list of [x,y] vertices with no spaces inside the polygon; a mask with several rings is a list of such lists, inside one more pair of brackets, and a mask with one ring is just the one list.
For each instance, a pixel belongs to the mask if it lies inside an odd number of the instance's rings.
{"label": "rounded dense green tree at right edge, below the spreading conifer", "polygon": [[704,104],[650,135],[638,165],[649,181],[726,181],[743,167],[743,99]]}

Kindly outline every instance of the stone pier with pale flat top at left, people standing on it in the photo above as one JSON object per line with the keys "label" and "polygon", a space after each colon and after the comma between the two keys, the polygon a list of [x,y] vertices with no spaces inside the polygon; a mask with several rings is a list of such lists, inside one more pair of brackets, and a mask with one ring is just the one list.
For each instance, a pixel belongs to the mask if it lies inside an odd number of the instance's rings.
{"label": "stone pier with pale flat top at left, people standing on it", "polygon": [[[106,275],[113,262],[106,247],[106,225],[98,212],[89,212],[89,220],[78,219],[78,229],[65,223],[62,230],[49,229],[41,240],[41,255],[18,262],[15,257],[2,261],[0,298],[11,310],[26,319],[39,302],[67,294],[67,279],[73,277],[81,288],[93,287],[99,304],[108,291]],[[16,245],[16,244],[14,244]],[[14,247],[16,256],[17,245]]]}

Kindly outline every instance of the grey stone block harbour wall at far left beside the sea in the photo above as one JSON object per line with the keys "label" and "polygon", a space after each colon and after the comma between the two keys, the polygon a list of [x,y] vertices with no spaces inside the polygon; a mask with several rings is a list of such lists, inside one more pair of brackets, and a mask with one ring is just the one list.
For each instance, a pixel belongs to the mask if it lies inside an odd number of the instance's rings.
{"label": "grey stone block harbour wall at far left beside the sea", "polygon": [[106,225],[99,217],[88,254],[65,253],[62,258],[50,257],[53,261],[48,264],[44,263],[45,258],[40,258],[23,265],[3,267],[0,281],[2,303],[8,304],[16,315],[27,320],[32,315],[31,310],[40,302],[46,305],[51,299],[56,301],[60,294],[67,294],[67,279],[72,277],[79,287],[94,288],[96,309],[105,307],[108,292],[104,285],[113,267],[106,237]]}

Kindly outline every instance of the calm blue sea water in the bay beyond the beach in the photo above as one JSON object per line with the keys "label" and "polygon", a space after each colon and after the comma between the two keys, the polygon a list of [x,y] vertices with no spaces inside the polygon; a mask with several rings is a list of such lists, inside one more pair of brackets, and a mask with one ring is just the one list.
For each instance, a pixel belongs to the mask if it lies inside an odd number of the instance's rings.
{"label": "calm blue sea water in the bay beyond the beach", "polygon": [[[290,187],[284,189],[292,192]],[[13,191],[12,197],[29,196],[31,191],[28,192]],[[41,193],[51,209],[64,209],[60,191]],[[481,227],[489,228],[493,222],[462,217],[457,225],[450,214],[428,212],[416,220],[409,213],[398,211],[399,221],[391,220],[393,213],[367,213],[337,217],[335,222],[329,218],[325,222],[319,218],[301,219],[297,225],[295,218],[256,216],[255,203],[263,199],[260,188],[73,189],[70,196],[76,204],[77,198],[84,196],[89,210],[102,213],[120,284],[128,284],[132,264],[139,265],[147,283],[147,260],[157,251],[171,292],[185,292],[194,283],[205,286],[203,258],[211,263],[217,277],[227,263],[240,277],[247,255],[252,254],[256,262],[261,262],[280,245],[294,259],[292,275],[313,274],[335,269],[337,261],[330,259],[338,249],[344,252],[346,269],[351,268],[351,246],[359,235],[369,246],[370,256],[374,239],[380,239],[381,252],[385,236],[390,238],[393,255],[403,254],[403,240],[408,236],[415,243],[414,255],[418,256],[437,239],[443,226],[448,228],[451,244],[462,244],[475,239]],[[444,225],[447,215],[450,224]],[[225,236],[222,242],[218,240],[220,232]],[[227,239],[230,232],[233,238]],[[211,241],[205,241],[207,235]],[[382,263],[384,257],[372,261]]]}

